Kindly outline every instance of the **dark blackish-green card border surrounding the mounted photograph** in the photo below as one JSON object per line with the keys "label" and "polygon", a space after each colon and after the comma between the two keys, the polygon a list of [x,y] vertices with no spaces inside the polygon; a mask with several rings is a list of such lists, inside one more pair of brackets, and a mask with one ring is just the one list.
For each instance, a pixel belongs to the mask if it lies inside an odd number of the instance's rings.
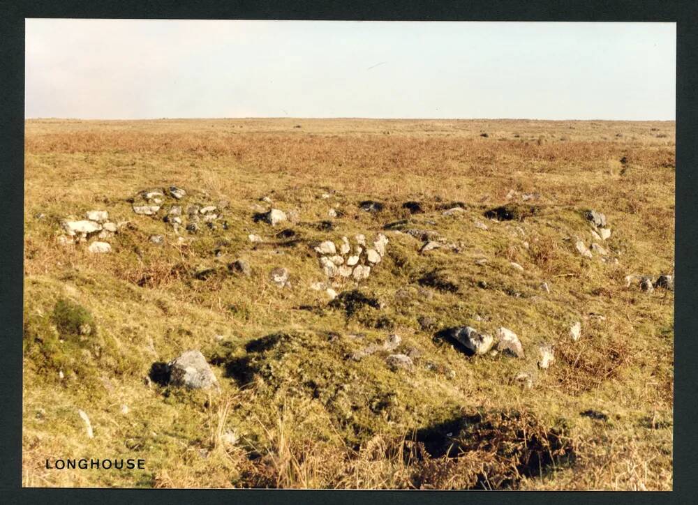
{"label": "dark blackish-green card border surrounding the mounted photograph", "polygon": [[[695,499],[698,470],[698,335],[695,296],[698,278],[691,260],[698,245],[698,9],[691,1],[591,0],[403,2],[256,1],[10,1],[0,9],[0,110],[4,149],[0,150],[0,202],[8,217],[0,227],[0,488],[3,501],[54,503],[169,502],[309,502],[397,503],[688,503]],[[22,462],[22,294],[24,221],[24,20],[43,18],[374,20],[374,21],[579,21],[676,22],[676,302],[674,312],[674,482],[673,492],[510,492],[495,495],[463,491],[401,490],[108,490],[21,488]],[[641,336],[638,336],[641,338]],[[228,492],[226,492],[228,491]],[[156,492],[158,495],[147,495]],[[232,492],[233,494],[230,494]],[[361,495],[356,493],[360,492]]]}

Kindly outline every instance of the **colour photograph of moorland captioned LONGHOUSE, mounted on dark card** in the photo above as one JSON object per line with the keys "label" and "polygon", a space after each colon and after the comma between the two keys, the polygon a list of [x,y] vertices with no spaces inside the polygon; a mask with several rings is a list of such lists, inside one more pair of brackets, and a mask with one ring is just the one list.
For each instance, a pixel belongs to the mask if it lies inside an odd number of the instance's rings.
{"label": "colour photograph of moorland captioned LONGHOUSE, mounted on dark card", "polygon": [[27,18],[22,488],[673,490],[676,26]]}

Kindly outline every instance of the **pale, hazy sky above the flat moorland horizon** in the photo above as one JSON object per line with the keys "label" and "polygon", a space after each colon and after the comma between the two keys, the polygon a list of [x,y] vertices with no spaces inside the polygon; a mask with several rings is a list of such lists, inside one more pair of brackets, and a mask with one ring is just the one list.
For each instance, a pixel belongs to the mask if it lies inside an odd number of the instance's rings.
{"label": "pale, hazy sky above the flat moorland horizon", "polygon": [[26,20],[27,118],[674,120],[676,24]]}

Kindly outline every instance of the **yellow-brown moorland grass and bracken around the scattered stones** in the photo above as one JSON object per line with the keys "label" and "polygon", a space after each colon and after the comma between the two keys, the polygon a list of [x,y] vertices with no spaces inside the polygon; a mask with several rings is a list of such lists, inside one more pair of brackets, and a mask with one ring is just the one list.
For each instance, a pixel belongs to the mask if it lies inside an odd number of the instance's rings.
{"label": "yellow-brown moorland grass and bracken around the scattered stones", "polygon": [[[674,294],[625,276],[674,270],[673,122],[57,119],[25,131],[25,486],[671,489]],[[162,216],[133,213],[140,190],[172,185],[225,207],[227,229],[178,241]],[[262,197],[297,222],[255,223]],[[383,211],[359,209],[368,199]],[[535,215],[484,218],[512,202]],[[61,220],[93,209],[125,223],[112,252],[59,245]],[[612,230],[606,262],[574,248],[593,241],[588,209]],[[420,254],[384,230],[397,220],[456,248]],[[315,243],[378,232],[383,262],[334,289],[380,308],[349,313],[311,289],[325,280]],[[250,276],[226,268],[240,258]],[[276,267],[290,287],[271,282]],[[432,271],[455,289],[424,282]],[[505,326],[526,357],[468,357],[434,338],[456,325]],[[389,333],[413,370],[380,352],[347,358]],[[542,343],[555,345],[548,370]],[[220,392],[147,379],[188,349]],[[45,468],[83,457],[146,469]]]}

